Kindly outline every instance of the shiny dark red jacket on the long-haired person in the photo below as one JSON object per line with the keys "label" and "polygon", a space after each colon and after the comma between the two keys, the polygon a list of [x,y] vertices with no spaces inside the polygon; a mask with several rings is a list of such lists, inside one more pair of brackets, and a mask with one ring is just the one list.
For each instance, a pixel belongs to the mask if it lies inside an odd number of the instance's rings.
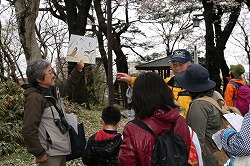
{"label": "shiny dark red jacket on the long-haired person", "polygon": [[[189,152],[190,133],[186,120],[179,114],[177,109],[169,112],[157,110],[151,118],[140,119],[146,123],[156,134],[163,129],[169,130],[171,124],[176,123],[174,133],[179,134],[185,141]],[[130,122],[123,130],[123,143],[120,146],[118,162],[119,166],[151,166],[155,137]]]}

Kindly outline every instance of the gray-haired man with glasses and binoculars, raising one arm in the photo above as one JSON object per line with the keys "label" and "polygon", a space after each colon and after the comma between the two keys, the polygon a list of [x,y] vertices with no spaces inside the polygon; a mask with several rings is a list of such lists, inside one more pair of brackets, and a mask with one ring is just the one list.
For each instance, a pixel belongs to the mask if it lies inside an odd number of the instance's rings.
{"label": "gray-haired man with glasses and binoculars, raising one arm", "polygon": [[28,152],[36,157],[38,166],[66,166],[71,147],[61,97],[77,86],[83,67],[83,61],[78,62],[69,78],[60,83],[55,82],[51,63],[46,60],[35,60],[27,67],[29,84],[24,86],[22,133]]}

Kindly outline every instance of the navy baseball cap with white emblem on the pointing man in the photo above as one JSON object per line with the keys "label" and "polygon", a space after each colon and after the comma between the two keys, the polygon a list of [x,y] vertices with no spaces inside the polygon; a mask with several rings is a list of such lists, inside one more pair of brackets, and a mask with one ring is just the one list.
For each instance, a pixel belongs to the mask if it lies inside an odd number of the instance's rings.
{"label": "navy baseball cap with white emblem on the pointing man", "polygon": [[170,62],[187,63],[188,61],[193,62],[193,57],[185,49],[175,50],[170,59]]}

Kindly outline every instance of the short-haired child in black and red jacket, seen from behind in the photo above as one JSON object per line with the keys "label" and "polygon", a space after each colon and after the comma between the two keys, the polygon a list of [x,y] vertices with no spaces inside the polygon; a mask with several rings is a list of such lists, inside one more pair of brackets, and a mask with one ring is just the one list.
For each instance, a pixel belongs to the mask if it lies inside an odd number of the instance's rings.
{"label": "short-haired child in black and red jacket, seen from behind", "polygon": [[122,143],[122,135],[117,132],[121,119],[120,111],[108,106],[102,110],[102,130],[92,135],[87,144],[82,161],[88,166],[118,166],[118,152]]}

